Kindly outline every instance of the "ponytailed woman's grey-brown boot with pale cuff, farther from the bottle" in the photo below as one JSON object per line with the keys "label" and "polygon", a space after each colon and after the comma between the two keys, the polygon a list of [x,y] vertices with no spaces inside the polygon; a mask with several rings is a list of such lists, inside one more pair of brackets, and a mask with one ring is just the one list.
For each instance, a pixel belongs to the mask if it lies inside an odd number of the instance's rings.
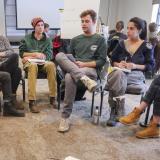
{"label": "ponytailed woman's grey-brown boot with pale cuff, farther from the bottle", "polygon": [[119,118],[125,115],[125,98],[116,98],[116,121],[119,122]]}

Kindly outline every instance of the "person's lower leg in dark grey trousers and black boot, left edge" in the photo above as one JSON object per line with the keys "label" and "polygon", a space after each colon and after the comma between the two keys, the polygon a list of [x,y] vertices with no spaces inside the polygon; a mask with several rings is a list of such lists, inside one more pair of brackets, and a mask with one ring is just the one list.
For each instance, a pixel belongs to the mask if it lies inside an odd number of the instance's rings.
{"label": "person's lower leg in dark grey trousers and black boot, left edge", "polygon": [[17,110],[17,106],[12,98],[11,76],[8,72],[0,71],[0,87],[3,93],[3,116],[24,117],[22,110]]}

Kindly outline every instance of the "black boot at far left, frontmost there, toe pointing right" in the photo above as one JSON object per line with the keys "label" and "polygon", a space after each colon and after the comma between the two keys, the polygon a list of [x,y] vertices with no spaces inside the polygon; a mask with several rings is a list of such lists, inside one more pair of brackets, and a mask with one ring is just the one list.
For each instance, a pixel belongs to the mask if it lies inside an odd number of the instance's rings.
{"label": "black boot at far left, frontmost there, toe pointing right", "polygon": [[3,116],[16,116],[16,117],[24,117],[25,112],[16,110],[14,104],[12,102],[4,102],[3,108]]}

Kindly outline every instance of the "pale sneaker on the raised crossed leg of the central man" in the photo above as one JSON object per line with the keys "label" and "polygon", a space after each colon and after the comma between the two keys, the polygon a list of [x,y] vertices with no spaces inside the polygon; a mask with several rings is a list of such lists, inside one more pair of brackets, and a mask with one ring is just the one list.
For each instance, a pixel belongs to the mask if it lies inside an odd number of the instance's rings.
{"label": "pale sneaker on the raised crossed leg of the central man", "polygon": [[90,79],[90,78],[89,78],[88,76],[86,76],[86,75],[83,76],[83,77],[81,77],[80,80],[83,82],[83,84],[87,87],[87,89],[88,89],[90,92],[93,92],[93,91],[96,90],[96,88],[97,88],[97,82],[96,82],[96,81]]}

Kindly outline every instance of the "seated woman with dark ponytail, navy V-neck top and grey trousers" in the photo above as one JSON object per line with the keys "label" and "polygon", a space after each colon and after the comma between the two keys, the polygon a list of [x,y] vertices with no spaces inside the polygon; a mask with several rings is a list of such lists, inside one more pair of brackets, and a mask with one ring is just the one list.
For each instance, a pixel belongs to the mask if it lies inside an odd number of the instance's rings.
{"label": "seated woman with dark ponytail, navy V-neck top and grey trousers", "polygon": [[[134,17],[127,27],[127,40],[119,42],[111,56],[114,70],[108,75],[108,102],[111,107],[108,126],[115,126],[119,117],[124,115],[125,92],[134,88],[134,92],[145,91],[144,72],[152,70],[154,60],[152,45],[141,37],[146,32],[144,20]],[[143,33],[143,34],[142,34]]]}

